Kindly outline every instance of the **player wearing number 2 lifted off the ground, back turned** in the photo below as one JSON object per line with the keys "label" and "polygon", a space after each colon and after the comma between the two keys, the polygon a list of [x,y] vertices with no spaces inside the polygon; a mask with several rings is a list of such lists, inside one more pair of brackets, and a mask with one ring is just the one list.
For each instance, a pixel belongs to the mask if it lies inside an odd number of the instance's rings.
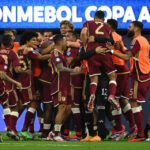
{"label": "player wearing number 2 lifted off the ground, back turned", "polygon": [[[98,46],[105,47],[105,44],[93,42],[88,42],[89,36],[95,37],[111,37],[111,29],[110,26],[104,23],[104,12],[97,11],[94,16],[93,21],[87,21],[83,25],[83,29],[81,31],[81,40],[83,41],[84,45],[86,45],[86,50],[89,51],[91,49],[95,49]],[[90,100],[88,103],[89,111],[92,111],[94,108],[94,100],[95,100],[95,93],[98,84],[98,76],[101,74],[100,66],[103,66],[105,71],[108,74],[110,79],[109,81],[109,97],[108,100],[115,106],[117,109],[120,108],[119,104],[115,100],[115,93],[116,93],[116,70],[113,65],[112,57],[110,53],[105,55],[99,54],[94,55],[88,60],[88,67],[89,67],[89,76],[91,80],[90,84]]]}

